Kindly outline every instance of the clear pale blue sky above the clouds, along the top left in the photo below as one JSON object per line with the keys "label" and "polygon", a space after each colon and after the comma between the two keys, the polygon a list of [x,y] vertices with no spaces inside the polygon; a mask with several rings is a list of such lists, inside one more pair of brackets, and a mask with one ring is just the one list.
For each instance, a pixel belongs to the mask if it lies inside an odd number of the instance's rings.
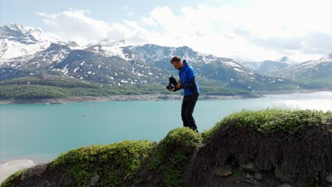
{"label": "clear pale blue sky above the clouds, along the top left", "polygon": [[[140,16],[147,16],[156,6],[175,7],[175,13],[179,13],[182,6],[197,6],[204,2],[206,5],[236,5],[240,6],[245,1],[199,1],[199,0],[1,0],[1,23],[23,23],[24,25],[38,26],[45,28],[43,21],[35,15],[35,12],[59,13],[68,11],[69,8],[75,10],[89,10],[89,16],[97,20],[106,22],[117,22],[123,19],[135,19]],[[127,10],[124,10],[127,6]],[[128,13],[133,13],[133,15]]]}

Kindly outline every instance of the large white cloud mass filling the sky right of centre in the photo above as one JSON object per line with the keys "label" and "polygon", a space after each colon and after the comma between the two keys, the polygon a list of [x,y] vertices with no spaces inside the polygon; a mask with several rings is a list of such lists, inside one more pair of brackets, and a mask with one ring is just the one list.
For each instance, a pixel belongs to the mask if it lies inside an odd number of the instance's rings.
{"label": "large white cloud mass filling the sky right of centre", "polygon": [[242,8],[199,4],[180,14],[156,7],[141,25],[158,28],[146,38],[159,45],[252,60],[289,55],[301,62],[331,52],[331,15],[331,0],[260,1]]}

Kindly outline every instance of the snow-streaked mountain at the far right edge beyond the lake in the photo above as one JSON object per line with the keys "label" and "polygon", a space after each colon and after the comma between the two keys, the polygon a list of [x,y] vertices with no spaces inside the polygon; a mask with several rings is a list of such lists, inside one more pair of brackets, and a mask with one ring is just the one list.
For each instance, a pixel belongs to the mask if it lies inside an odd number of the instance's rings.
{"label": "snow-streaked mountain at the far right edge beyond the lake", "polygon": [[293,80],[309,80],[309,79],[332,79],[332,53],[321,57],[319,60],[309,60],[299,64],[294,64],[280,72],[276,72],[275,76],[284,77]]}

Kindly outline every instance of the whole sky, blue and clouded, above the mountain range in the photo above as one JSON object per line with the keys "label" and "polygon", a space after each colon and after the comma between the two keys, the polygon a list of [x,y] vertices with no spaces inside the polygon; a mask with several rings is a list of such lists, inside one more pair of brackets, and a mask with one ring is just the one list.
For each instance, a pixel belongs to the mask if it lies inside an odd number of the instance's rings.
{"label": "whole sky, blue and clouded, above the mountain range", "polygon": [[0,0],[1,25],[37,27],[80,45],[102,39],[187,45],[237,60],[331,53],[331,0]]}

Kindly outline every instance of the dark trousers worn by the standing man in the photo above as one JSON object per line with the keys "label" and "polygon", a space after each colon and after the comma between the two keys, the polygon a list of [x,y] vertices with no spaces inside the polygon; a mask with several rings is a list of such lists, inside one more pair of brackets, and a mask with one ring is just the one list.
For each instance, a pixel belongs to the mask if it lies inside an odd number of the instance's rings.
{"label": "dark trousers worn by the standing man", "polygon": [[193,96],[184,96],[182,100],[181,117],[183,121],[183,126],[191,128],[192,130],[197,130],[197,126],[194,117],[192,117],[192,113],[194,113],[194,108],[198,97],[198,94],[194,94]]}

